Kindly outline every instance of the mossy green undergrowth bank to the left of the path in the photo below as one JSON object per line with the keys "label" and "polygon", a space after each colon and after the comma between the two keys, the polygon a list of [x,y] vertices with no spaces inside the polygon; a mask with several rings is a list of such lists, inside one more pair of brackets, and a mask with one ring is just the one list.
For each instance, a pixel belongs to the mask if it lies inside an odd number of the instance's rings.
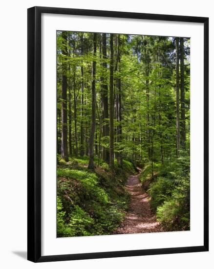
{"label": "mossy green undergrowth bank to the left of the path", "polygon": [[104,162],[94,172],[58,167],[58,237],[109,234],[118,227],[129,201],[124,182],[134,171],[130,162],[124,165],[114,174]]}

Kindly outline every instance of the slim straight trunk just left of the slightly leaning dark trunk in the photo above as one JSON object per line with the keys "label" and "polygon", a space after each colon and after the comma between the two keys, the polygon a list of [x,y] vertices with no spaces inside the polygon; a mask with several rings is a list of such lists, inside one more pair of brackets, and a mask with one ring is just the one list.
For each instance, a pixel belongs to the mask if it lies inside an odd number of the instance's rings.
{"label": "slim straight trunk just left of the slightly leaning dark trunk", "polygon": [[[84,54],[84,47],[83,47],[83,34],[81,36],[81,55]],[[83,122],[83,106],[84,106],[84,70],[83,70],[83,61],[81,65],[81,122],[80,122],[80,156],[84,156],[84,122]]]}

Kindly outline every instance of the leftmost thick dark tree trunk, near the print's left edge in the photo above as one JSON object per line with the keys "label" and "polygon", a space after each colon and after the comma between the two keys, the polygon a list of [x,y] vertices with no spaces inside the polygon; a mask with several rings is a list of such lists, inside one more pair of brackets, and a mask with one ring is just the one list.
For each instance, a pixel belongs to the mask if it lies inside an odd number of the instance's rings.
{"label": "leftmost thick dark tree trunk, near the print's left edge", "polygon": [[[63,37],[63,50],[62,54],[64,55],[65,59],[67,56],[67,34],[66,32],[62,32]],[[67,154],[67,64],[66,61],[63,59],[62,64],[62,150],[61,156],[64,158],[65,161],[68,161],[68,154]]]}

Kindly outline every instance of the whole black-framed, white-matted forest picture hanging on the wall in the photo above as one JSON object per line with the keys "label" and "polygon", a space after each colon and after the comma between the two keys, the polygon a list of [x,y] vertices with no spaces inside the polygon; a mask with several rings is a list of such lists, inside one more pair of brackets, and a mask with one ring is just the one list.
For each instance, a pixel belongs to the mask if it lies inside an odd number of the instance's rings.
{"label": "whole black-framed, white-matted forest picture hanging on the wall", "polygon": [[208,23],[28,9],[28,260],[208,251]]}

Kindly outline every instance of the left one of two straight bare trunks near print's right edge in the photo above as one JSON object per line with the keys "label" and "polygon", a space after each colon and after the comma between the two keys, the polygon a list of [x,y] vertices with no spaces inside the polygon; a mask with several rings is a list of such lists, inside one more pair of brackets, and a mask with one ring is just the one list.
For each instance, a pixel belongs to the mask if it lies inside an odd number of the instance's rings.
{"label": "left one of two straight bare trunks near print's right edge", "polygon": [[179,109],[179,38],[175,38],[176,50],[176,153],[180,157],[180,109]]}

